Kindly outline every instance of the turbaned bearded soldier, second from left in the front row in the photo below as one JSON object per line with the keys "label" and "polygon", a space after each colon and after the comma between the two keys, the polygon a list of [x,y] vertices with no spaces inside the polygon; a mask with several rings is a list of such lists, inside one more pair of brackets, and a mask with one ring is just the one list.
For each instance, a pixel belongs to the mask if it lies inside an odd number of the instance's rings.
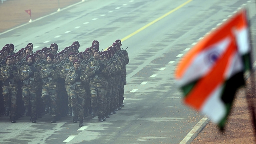
{"label": "turbaned bearded soldier, second from left in the front row", "polygon": [[20,80],[22,80],[22,99],[24,101],[24,106],[26,108],[25,114],[29,116],[28,110],[31,108],[31,121],[36,122],[37,112],[36,112],[36,90],[39,80],[38,69],[36,69],[33,64],[35,62],[35,57],[32,54],[28,54],[26,57],[27,65],[20,68]]}

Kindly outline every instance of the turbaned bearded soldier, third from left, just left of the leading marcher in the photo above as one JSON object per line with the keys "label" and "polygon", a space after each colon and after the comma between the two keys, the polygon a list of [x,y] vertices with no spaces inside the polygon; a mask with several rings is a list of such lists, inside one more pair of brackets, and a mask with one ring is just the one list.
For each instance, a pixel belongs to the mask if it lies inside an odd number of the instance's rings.
{"label": "turbaned bearded soldier, third from left, just left of the leading marcher", "polygon": [[42,66],[40,71],[39,78],[42,80],[43,88],[42,88],[42,98],[44,103],[46,104],[46,108],[48,106],[51,107],[52,121],[51,123],[55,123],[58,120],[58,111],[57,111],[57,82],[60,77],[60,71],[56,68],[56,65],[52,64],[54,59],[53,54],[46,54],[47,64]]}

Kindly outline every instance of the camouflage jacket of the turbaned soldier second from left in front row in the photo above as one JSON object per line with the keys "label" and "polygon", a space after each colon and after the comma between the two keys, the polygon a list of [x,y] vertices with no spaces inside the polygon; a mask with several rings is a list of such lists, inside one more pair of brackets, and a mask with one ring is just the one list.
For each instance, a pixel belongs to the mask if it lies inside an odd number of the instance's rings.
{"label": "camouflage jacket of the turbaned soldier second from left in front row", "polygon": [[29,70],[30,70],[30,66],[28,65],[20,68],[20,74],[19,74],[20,80],[23,82],[23,86],[36,88],[39,80],[38,68],[36,68],[36,72],[34,72],[32,76],[29,76],[28,74]]}

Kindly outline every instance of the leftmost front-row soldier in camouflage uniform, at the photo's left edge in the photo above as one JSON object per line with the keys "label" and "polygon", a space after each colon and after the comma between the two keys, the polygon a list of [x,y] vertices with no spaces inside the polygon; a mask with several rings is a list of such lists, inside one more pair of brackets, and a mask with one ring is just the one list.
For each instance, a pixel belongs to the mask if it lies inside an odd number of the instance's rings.
{"label": "leftmost front-row soldier in camouflage uniform, at the photo's left edge", "polygon": [[6,66],[1,68],[0,80],[3,82],[3,96],[5,115],[9,116],[12,123],[16,120],[16,108],[17,108],[17,82],[19,80],[19,70],[16,66],[12,65],[12,57],[6,57]]}

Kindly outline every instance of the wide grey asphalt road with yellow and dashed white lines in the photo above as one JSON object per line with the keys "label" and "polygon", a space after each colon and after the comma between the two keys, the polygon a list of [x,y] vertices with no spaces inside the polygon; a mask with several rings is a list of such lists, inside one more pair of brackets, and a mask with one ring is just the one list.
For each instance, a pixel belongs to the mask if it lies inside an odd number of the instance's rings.
{"label": "wide grey asphalt road with yellow and dashed white lines", "polygon": [[48,115],[37,123],[22,117],[15,124],[1,116],[0,144],[191,142],[207,120],[182,103],[175,66],[241,6],[255,19],[254,2],[248,0],[88,0],[0,34],[1,46],[13,43],[20,49],[32,42],[34,51],[51,43],[62,50],[76,40],[80,51],[93,40],[101,50],[121,39],[130,58],[125,107],[117,114],[102,123],[87,118],[82,128],[70,116],[54,124]]}

